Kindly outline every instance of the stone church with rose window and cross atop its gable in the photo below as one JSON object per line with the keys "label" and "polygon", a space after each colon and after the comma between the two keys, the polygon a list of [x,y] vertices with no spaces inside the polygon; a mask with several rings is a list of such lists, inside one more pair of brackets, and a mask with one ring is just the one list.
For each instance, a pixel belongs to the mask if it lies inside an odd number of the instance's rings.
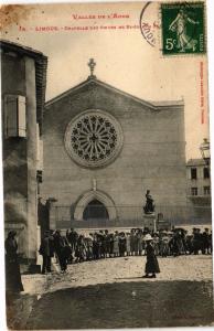
{"label": "stone church with rose window and cross atop its gable", "polygon": [[184,102],[146,102],[94,75],[49,100],[43,183],[50,228],[142,226],[156,215],[186,223]]}

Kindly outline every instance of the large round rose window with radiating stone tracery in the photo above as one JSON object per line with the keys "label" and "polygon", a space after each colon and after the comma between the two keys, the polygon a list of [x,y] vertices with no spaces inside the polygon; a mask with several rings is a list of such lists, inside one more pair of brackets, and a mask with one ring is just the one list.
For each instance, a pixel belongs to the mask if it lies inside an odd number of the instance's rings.
{"label": "large round rose window with radiating stone tracery", "polygon": [[122,145],[119,122],[109,114],[87,110],[76,116],[65,132],[65,147],[77,163],[100,167],[113,161]]}

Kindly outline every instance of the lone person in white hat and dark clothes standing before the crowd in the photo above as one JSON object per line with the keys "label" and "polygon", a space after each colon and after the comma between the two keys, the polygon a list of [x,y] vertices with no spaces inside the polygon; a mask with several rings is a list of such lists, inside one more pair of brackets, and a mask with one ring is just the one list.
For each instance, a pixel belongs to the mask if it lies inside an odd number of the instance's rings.
{"label": "lone person in white hat and dark clothes standing before the crowd", "polygon": [[[151,245],[152,237],[150,234],[145,236],[146,241],[146,255],[147,255],[147,263],[146,263],[146,270],[143,278],[156,278],[156,274],[160,273],[158,259],[154,254],[153,246]],[[149,276],[149,274],[152,274]]]}

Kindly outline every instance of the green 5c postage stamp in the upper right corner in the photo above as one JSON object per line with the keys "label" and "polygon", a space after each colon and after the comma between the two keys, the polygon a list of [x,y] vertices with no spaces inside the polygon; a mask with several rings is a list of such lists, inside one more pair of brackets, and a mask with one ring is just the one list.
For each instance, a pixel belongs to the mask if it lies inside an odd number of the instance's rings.
{"label": "green 5c postage stamp in the upper right corner", "polygon": [[205,53],[204,2],[161,4],[163,55]]}

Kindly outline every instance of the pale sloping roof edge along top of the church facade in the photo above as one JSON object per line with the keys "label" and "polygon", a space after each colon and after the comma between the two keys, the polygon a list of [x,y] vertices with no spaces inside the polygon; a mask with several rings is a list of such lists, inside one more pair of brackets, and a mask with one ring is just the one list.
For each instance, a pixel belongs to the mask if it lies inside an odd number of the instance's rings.
{"label": "pale sloping roof edge along top of the church facade", "polygon": [[172,100],[172,102],[146,102],[146,100],[140,99],[140,98],[138,98],[138,97],[136,97],[136,96],[133,96],[129,93],[126,93],[126,92],[124,92],[124,90],[121,90],[117,87],[114,87],[114,86],[111,86],[107,83],[104,83],[104,82],[99,81],[99,79],[96,78],[96,76],[93,75],[93,76],[88,76],[88,78],[86,81],[82,82],[81,84],[65,90],[64,93],[62,93],[62,94],[57,95],[56,97],[54,97],[54,98],[50,99],[49,102],[46,102],[45,108],[49,108],[52,104],[58,102],[60,99],[66,97],[67,95],[72,94],[72,93],[75,93],[78,89],[81,89],[81,88],[83,88],[87,85],[92,85],[92,84],[93,85],[96,84],[97,86],[105,87],[105,88],[107,88],[107,89],[109,89],[114,93],[117,93],[121,96],[128,97],[128,98],[132,99],[133,102],[137,102],[137,103],[141,104],[142,106],[145,106],[146,108],[149,108],[151,110],[160,110],[160,109],[162,109],[164,107],[169,107],[169,106],[170,107],[178,107],[178,106],[183,106],[184,105],[183,99],[182,100]]}

